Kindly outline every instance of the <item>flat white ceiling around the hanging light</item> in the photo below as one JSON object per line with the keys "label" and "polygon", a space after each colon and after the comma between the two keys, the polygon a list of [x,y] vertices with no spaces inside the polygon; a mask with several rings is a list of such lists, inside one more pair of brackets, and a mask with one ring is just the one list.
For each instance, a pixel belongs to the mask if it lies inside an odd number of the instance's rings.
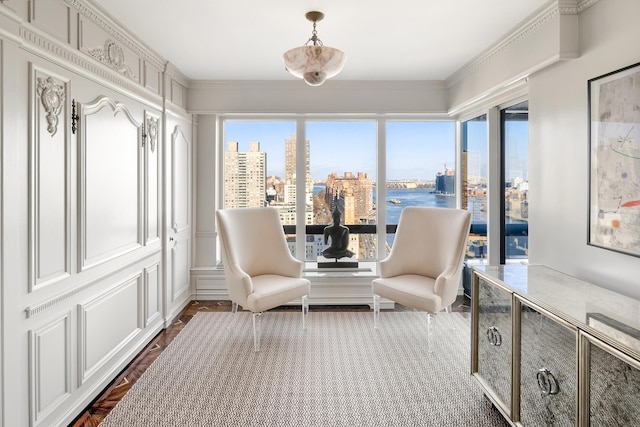
{"label": "flat white ceiling around the hanging light", "polygon": [[288,80],[282,53],[317,34],[334,80],[445,80],[549,0],[93,0],[195,80]]}

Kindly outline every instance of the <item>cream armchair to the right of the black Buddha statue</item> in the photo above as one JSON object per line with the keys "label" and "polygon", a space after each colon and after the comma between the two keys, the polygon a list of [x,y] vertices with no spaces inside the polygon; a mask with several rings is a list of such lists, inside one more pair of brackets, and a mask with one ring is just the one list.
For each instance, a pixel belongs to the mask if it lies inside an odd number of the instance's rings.
{"label": "cream armchair to the right of the black Buddha statue", "polygon": [[462,209],[406,207],[389,256],[372,282],[374,326],[380,298],[435,314],[450,311],[458,294],[471,225]]}

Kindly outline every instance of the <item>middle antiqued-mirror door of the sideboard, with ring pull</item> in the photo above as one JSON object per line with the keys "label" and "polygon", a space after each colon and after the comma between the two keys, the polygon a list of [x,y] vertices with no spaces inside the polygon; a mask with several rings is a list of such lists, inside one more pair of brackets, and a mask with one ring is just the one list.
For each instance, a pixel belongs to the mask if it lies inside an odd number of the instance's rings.
{"label": "middle antiqued-mirror door of the sideboard, with ring pull", "polygon": [[523,304],[520,337],[520,421],[575,426],[577,329]]}

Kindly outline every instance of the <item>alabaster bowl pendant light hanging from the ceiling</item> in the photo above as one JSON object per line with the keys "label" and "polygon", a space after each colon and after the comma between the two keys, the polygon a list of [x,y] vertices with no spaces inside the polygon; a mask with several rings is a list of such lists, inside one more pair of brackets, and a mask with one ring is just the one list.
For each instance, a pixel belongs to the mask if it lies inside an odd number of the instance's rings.
{"label": "alabaster bowl pendant light hanging from the ceiling", "polygon": [[318,38],[316,22],[324,18],[322,12],[307,12],[305,17],[313,22],[311,37],[304,46],[286,51],[282,59],[288,72],[311,86],[320,86],[342,70],[347,56],[340,49],[324,46]]}

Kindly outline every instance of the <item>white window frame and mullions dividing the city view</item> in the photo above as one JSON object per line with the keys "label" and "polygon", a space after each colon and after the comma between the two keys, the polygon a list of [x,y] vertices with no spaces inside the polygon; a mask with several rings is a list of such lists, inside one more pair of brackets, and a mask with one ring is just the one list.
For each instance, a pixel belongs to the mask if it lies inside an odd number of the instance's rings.
{"label": "white window frame and mullions dividing the city view", "polygon": [[[306,136],[306,123],[307,121],[375,121],[376,122],[376,183],[386,182],[386,155],[379,155],[380,153],[386,153],[386,125],[387,121],[447,121],[454,122],[455,124],[455,158],[456,158],[456,170],[460,171],[461,158],[462,158],[462,140],[461,140],[461,123],[465,119],[471,119],[478,115],[486,114],[487,116],[487,240],[489,246],[489,254],[486,261],[497,262],[501,259],[500,251],[504,246],[504,236],[501,232],[503,228],[500,226],[500,222],[504,222],[502,217],[501,203],[504,203],[504,196],[499,197],[503,191],[500,191],[501,185],[504,182],[502,174],[504,173],[502,166],[502,149],[501,149],[501,121],[500,121],[500,109],[506,108],[511,105],[515,105],[519,102],[528,100],[526,95],[522,95],[518,98],[509,99],[504,104],[487,108],[476,108],[473,112],[469,112],[465,116],[458,115],[452,118],[450,114],[218,114],[216,116],[216,173],[215,173],[215,209],[220,209],[224,206],[224,149],[225,149],[225,134],[224,123],[228,120],[234,121],[295,121],[296,123],[296,140],[298,146],[296,147],[296,168],[304,170],[305,157],[304,157],[304,143],[307,139]],[[502,179],[501,179],[502,178]],[[462,176],[460,173],[456,173],[456,207],[461,206],[461,191],[462,191]],[[296,181],[296,192],[302,194],[305,192],[305,180]],[[376,200],[386,200],[386,186],[376,185],[374,190],[376,192]],[[502,200],[501,200],[502,199]],[[307,234],[318,234],[319,227],[324,225],[307,225],[305,224],[305,211],[304,211],[304,198],[298,197],[296,199],[296,224],[295,226],[285,226],[285,232],[288,234],[295,230],[296,235],[296,257],[305,261],[305,239]],[[386,239],[387,233],[395,233],[397,224],[386,224],[386,211],[385,209],[378,209],[376,213],[377,224],[375,225],[357,225],[350,226],[350,230],[353,233],[367,233],[373,234],[372,230],[375,230],[376,238],[378,242],[383,242]],[[378,227],[378,224],[385,224],[385,227]],[[293,233],[290,233],[293,234]],[[499,242],[495,244],[492,242]],[[386,257],[384,245],[377,245],[377,260],[384,259]],[[217,258],[220,260],[219,250],[217,251]]]}

